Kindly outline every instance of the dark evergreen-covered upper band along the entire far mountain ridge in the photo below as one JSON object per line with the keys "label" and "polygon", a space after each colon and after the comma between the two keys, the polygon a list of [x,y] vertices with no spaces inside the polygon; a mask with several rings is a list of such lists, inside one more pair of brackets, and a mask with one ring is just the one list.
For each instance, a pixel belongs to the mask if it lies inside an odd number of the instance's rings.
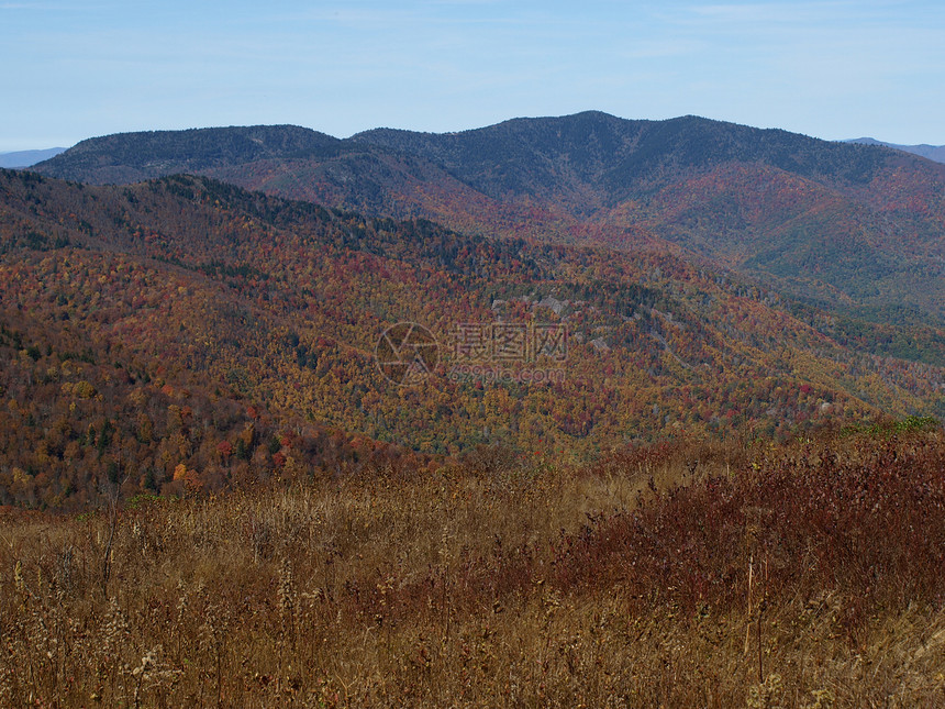
{"label": "dark evergreen-covered upper band along the entire far mountain ridge", "polygon": [[615,200],[636,186],[658,184],[660,175],[733,160],[855,184],[870,179],[885,162],[881,154],[854,145],[777,129],[693,115],[647,121],[586,111],[512,119],[459,133],[375,129],[345,140],[296,125],[118,133],[82,141],[35,169],[60,179],[123,184],[176,173],[213,174],[259,160],[326,160],[368,146],[385,155],[425,158],[499,198],[542,189],[557,193],[580,185]]}

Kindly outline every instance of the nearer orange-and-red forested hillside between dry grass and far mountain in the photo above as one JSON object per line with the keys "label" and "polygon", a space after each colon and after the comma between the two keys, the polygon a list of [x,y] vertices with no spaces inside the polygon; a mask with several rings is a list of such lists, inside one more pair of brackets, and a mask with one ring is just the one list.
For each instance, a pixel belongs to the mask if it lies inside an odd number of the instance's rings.
{"label": "nearer orange-and-red forested hillside between dry grass and far mountain", "polygon": [[[3,171],[0,200],[4,502],[943,413],[941,331],[647,248],[487,240],[199,177]],[[375,358],[402,321],[438,345],[414,386]],[[470,357],[460,333],[502,323],[566,344]]]}

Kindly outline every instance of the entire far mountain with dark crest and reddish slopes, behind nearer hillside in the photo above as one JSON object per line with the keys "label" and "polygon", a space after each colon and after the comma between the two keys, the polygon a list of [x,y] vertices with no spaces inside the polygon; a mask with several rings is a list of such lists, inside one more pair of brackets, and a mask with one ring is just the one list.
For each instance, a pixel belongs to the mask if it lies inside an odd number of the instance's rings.
{"label": "entire far mountain with dark crest and reddish slopes, behind nearer hillside", "polygon": [[879,146],[587,111],[345,140],[298,126],[123,134],[34,169],[119,184],[196,173],[481,235],[678,248],[825,307],[945,323],[945,166]]}

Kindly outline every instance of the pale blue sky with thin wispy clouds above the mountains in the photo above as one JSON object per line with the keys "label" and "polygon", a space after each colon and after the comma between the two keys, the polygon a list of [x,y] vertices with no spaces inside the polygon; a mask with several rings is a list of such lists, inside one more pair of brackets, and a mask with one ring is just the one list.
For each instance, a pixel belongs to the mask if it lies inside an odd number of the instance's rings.
{"label": "pale blue sky with thin wispy clouds above the mountains", "polygon": [[600,110],[945,144],[941,0],[0,0],[0,152]]}

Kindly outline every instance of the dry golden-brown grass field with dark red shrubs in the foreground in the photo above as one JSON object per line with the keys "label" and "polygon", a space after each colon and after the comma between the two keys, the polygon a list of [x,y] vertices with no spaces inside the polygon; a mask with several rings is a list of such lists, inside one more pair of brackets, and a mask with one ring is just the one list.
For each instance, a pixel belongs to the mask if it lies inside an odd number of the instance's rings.
{"label": "dry golden-brown grass field with dark red shrubs in the foreground", "polygon": [[945,437],[8,509],[0,638],[3,707],[942,707]]}

